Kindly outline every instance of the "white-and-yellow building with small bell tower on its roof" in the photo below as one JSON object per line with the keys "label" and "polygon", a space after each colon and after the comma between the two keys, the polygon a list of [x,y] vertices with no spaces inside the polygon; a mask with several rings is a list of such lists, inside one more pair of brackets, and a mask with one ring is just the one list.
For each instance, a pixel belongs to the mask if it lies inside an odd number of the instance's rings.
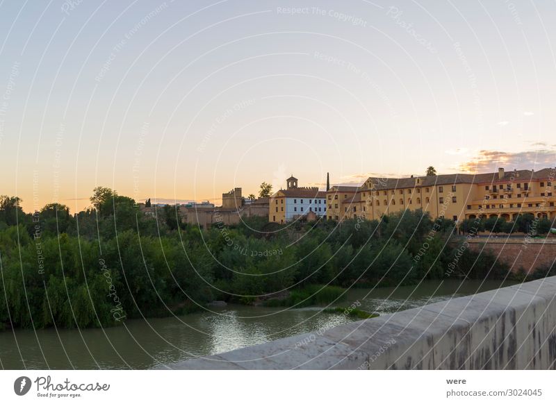
{"label": "white-and-yellow building with small bell tower on its roof", "polygon": [[286,223],[314,212],[317,217],[326,217],[326,192],[318,187],[299,187],[297,178],[286,180],[286,190],[279,190],[270,196],[268,220]]}

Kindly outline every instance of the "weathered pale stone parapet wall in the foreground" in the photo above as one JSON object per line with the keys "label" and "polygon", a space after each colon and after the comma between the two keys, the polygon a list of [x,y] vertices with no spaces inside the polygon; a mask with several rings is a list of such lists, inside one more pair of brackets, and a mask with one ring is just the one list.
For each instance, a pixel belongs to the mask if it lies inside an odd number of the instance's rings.
{"label": "weathered pale stone parapet wall in the foreground", "polygon": [[555,369],[555,327],[556,276],[168,367]]}

